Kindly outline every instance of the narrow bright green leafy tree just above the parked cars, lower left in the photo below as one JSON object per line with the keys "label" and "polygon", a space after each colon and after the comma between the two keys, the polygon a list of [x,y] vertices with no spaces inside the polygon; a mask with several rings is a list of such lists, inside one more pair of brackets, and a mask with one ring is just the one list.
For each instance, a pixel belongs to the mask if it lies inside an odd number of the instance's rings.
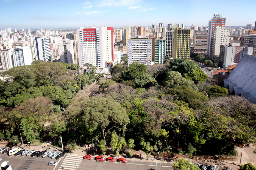
{"label": "narrow bright green leafy tree just above the parked cars, lower left", "polygon": [[35,142],[35,133],[32,131],[32,128],[29,126],[27,119],[21,119],[20,129],[22,136],[25,136],[25,140],[34,143]]}

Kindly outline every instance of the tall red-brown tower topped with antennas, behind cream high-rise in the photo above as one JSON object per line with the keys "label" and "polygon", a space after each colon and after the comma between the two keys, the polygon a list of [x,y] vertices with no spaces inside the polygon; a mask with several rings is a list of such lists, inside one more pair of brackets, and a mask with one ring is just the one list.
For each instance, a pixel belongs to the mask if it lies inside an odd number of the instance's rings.
{"label": "tall red-brown tower topped with antennas, behind cream high-rise", "polygon": [[208,27],[208,42],[207,42],[207,55],[211,57],[212,55],[212,48],[213,48],[213,34],[214,34],[214,27],[216,25],[224,26],[226,24],[226,18],[222,18],[221,15],[213,15],[213,18],[209,20],[209,27]]}

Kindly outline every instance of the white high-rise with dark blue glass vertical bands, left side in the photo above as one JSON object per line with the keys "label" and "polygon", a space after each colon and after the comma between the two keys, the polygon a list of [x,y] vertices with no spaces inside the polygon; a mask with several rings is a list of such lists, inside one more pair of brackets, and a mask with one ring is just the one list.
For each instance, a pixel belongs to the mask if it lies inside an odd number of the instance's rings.
{"label": "white high-rise with dark blue glass vertical bands, left side", "polygon": [[35,60],[51,61],[51,46],[49,38],[36,37],[34,39]]}

